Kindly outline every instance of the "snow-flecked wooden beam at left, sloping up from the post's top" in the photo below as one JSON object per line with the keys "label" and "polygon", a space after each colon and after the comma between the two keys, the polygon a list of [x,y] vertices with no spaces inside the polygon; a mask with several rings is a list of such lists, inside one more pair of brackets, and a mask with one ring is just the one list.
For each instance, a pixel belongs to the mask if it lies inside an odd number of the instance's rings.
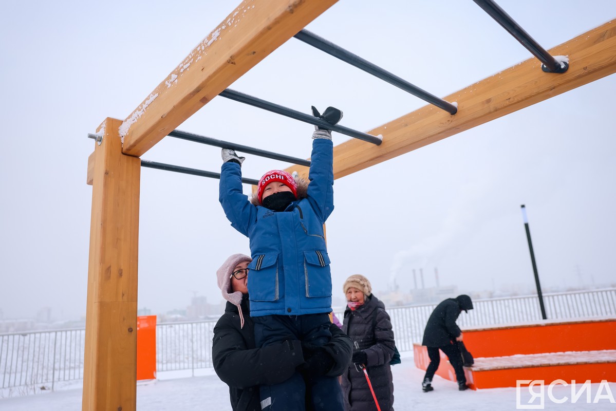
{"label": "snow-flecked wooden beam at left, sloping up from the post's top", "polygon": [[140,157],[337,0],[245,0],[124,121]]}

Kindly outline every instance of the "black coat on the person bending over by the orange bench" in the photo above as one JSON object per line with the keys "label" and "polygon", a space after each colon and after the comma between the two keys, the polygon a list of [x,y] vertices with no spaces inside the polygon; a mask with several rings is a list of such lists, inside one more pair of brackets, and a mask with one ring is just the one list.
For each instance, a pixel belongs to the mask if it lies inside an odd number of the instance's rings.
{"label": "black coat on the person bending over by the orange bench", "polygon": [[442,347],[451,344],[452,340],[462,333],[456,324],[461,311],[460,303],[455,298],[441,301],[428,319],[421,344],[428,347]]}

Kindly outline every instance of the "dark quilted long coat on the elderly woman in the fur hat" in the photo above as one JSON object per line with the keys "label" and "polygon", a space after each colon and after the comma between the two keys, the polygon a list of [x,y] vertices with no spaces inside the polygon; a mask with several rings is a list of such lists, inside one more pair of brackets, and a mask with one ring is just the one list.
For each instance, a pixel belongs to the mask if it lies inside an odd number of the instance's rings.
{"label": "dark quilted long coat on the elderly woman in the fur hat", "polygon": [[[393,411],[394,382],[389,361],[394,355],[395,344],[385,305],[372,295],[355,311],[347,308],[342,330],[353,340],[355,351],[367,354],[366,369],[381,411]],[[354,364],[342,375],[341,385],[346,411],[376,410],[366,376]]]}

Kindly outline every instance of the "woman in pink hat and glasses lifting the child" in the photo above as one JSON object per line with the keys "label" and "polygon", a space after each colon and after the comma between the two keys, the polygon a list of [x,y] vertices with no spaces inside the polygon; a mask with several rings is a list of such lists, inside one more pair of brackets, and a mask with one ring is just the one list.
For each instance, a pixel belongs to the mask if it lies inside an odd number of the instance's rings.
{"label": "woman in pink hat and glasses lifting the child", "polygon": [[[259,386],[282,383],[296,371],[305,380],[339,376],[349,367],[353,352],[351,338],[334,324],[330,325],[332,339],[325,346],[302,346],[290,336],[281,343],[256,348],[246,287],[251,261],[244,254],[233,254],[216,272],[227,306],[214,327],[212,359],[216,374],[229,385],[233,411],[261,411]],[[326,404],[321,405],[326,409]],[[306,402],[306,410],[319,408]]]}

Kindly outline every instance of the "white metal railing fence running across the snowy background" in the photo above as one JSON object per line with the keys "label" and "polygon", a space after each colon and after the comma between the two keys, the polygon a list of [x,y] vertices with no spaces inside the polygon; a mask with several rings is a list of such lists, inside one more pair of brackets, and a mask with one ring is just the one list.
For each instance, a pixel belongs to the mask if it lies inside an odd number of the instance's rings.
{"label": "white metal railing fence running across the snowy background", "polygon": [[[548,319],[616,317],[616,288],[545,294]],[[479,299],[460,315],[461,328],[541,320],[537,296]],[[421,343],[436,304],[389,307],[399,351]],[[336,312],[342,319],[342,312]],[[171,322],[156,325],[156,370],[212,367],[211,344],[216,321]],[[0,334],[0,397],[54,389],[63,381],[83,378],[85,330],[52,330]]]}

